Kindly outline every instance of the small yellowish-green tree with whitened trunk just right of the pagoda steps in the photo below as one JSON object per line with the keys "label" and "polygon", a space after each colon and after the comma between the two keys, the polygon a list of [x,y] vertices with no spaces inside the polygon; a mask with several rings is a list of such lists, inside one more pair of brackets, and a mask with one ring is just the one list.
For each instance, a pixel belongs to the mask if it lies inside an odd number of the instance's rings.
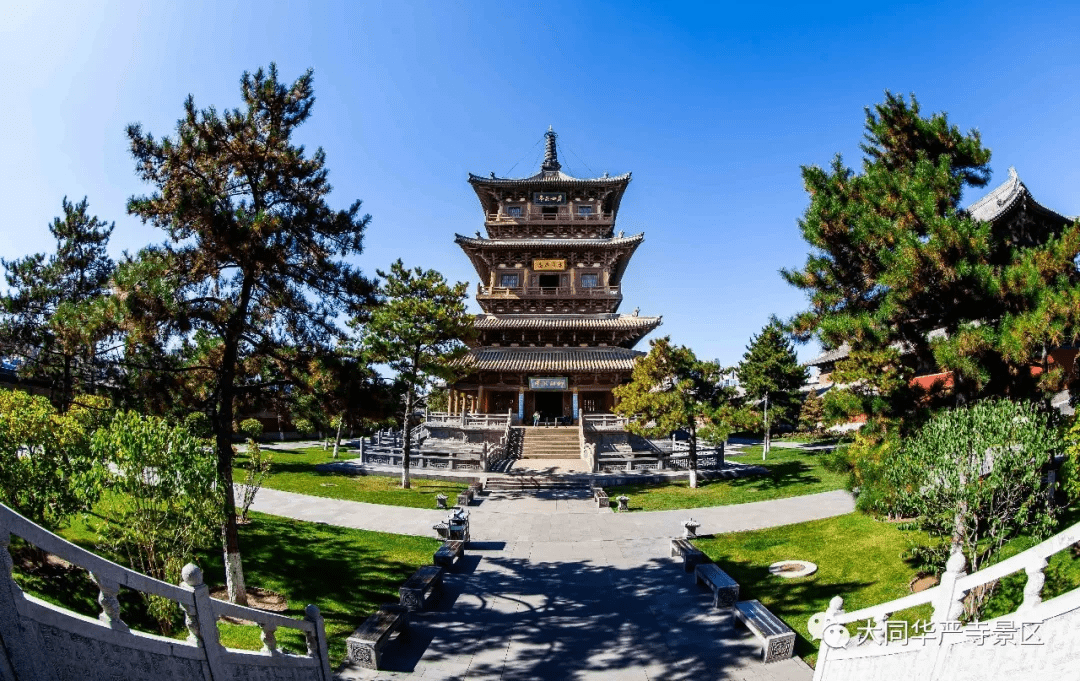
{"label": "small yellowish-green tree with whitened trunk just right of the pagoda steps", "polygon": [[649,354],[634,364],[631,382],[615,389],[615,412],[626,430],[643,437],[666,437],[679,428],[690,434],[690,487],[698,487],[698,438],[723,442],[735,416],[715,362],[698,359],[689,348],[665,336],[649,341]]}

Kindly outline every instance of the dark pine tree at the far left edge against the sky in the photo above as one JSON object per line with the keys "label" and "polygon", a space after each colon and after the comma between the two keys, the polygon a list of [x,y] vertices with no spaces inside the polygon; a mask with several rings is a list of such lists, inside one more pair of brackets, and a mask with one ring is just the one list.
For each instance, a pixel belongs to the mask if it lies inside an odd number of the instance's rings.
{"label": "dark pine tree at the far left edge against the sky", "polygon": [[0,353],[21,360],[21,376],[48,383],[63,411],[102,383],[109,333],[87,303],[106,292],[114,263],[105,250],[113,224],[91,216],[85,198],[62,205],[49,226],[56,253],[0,260]]}

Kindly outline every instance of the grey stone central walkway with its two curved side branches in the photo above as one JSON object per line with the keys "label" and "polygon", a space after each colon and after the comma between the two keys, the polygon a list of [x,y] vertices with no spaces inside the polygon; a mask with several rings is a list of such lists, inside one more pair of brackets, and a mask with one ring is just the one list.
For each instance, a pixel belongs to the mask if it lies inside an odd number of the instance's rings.
{"label": "grey stone central walkway with its two curved side branches", "polygon": [[[443,510],[264,489],[255,509],[431,535]],[[689,515],[700,533],[851,513],[846,492],[688,510],[616,514],[584,490],[491,492],[470,508],[472,542],[432,612],[388,646],[383,671],[352,679],[809,681],[800,659],[762,665],[756,639],[669,558]]]}

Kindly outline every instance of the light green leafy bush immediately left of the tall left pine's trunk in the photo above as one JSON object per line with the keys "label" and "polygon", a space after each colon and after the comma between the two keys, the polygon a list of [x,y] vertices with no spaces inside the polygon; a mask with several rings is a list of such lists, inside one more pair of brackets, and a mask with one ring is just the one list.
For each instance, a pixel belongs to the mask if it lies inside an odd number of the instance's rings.
{"label": "light green leafy bush immediately left of the tall left pine's trunk", "polygon": [[[94,433],[92,451],[106,485],[122,500],[102,532],[106,547],[126,556],[133,570],[177,583],[180,569],[221,527],[211,442],[159,417],[127,411]],[[144,597],[161,632],[172,634],[176,602]]]}

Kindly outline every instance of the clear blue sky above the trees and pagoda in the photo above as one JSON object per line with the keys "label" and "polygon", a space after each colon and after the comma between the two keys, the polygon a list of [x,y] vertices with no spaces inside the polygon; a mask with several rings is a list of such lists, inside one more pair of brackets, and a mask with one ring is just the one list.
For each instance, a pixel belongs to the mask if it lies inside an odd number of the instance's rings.
{"label": "clear blue sky above the trees and pagoda", "polygon": [[369,273],[401,257],[474,287],[454,244],[483,228],[468,173],[534,174],[553,125],[564,171],[634,174],[617,229],[646,240],[622,311],[725,364],[805,304],[778,274],[806,256],[799,166],[858,167],[886,88],[978,128],[991,186],[1013,165],[1080,215],[1076,2],[98,4],[5,3],[0,257],[51,250],[64,195],[117,222],[114,255],[160,241],[125,214],[147,188],[124,126],[172,134],[189,93],[237,106],[270,62],[314,69],[300,139],[326,151],[332,204],[374,217]]}

